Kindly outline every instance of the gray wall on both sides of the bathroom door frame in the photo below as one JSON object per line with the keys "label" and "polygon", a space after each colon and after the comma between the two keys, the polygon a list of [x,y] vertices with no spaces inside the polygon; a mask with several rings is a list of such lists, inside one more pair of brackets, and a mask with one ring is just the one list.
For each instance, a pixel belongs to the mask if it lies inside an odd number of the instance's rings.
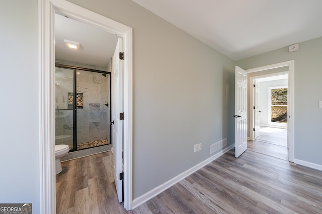
{"label": "gray wall on both sides of the bathroom door frame", "polygon": [[[130,0],[70,2],[133,28],[133,198],[210,157],[210,144],[233,143],[231,59]],[[1,9],[0,200],[39,213],[38,2]]]}

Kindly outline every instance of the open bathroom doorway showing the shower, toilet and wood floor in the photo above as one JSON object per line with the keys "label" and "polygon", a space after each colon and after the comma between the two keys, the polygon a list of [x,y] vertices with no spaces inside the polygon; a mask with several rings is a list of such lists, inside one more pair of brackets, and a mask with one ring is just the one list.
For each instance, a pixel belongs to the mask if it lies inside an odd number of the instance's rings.
{"label": "open bathroom doorway showing the shower, toilet and wood floor", "polygon": [[[118,126],[122,127],[123,121],[114,116],[117,115],[116,104],[119,106],[118,113],[123,110],[123,95],[120,92],[123,85],[116,85],[114,80],[123,76],[122,69],[117,69],[123,66],[114,65],[116,62],[123,64],[119,59],[122,47],[122,38],[117,35],[68,16],[55,14],[55,154],[58,213],[77,212],[79,208],[88,208],[95,213],[111,212],[106,206],[117,205],[117,202],[122,201],[122,181],[118,176],[113,176],[114,179],[110,176],[122,172],[122,169],[114,167],[122,166],[121,155],[116,154],[119,144],[122,148],[122,130],[119,131],[120,134],[115,132]],[[114,80],[113,100],[111,79]],[[122,81],[122,78],[119,79]],[[68,146],[69,152],[64,156],[60,155],[63,157],[57,161],[57,148],[61,146]],[[118,197],[115,197],[116,195]],[[66,199],[68,197],[74,200]],[[88,204],[83,202],[85,198]],[[104,204],[107,201],[108,204]]]}

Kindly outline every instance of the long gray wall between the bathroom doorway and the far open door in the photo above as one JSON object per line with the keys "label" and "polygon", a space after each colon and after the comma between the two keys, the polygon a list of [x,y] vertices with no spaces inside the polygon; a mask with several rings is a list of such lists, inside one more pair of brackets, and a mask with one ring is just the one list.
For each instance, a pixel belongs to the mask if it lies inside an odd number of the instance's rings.
{"label": "long gray wall between the bathroom doorway and the far open door", "polygon": [[227,137],[234,62],[134,2],[70,2],[133,28],[133,198],[209,158]]}

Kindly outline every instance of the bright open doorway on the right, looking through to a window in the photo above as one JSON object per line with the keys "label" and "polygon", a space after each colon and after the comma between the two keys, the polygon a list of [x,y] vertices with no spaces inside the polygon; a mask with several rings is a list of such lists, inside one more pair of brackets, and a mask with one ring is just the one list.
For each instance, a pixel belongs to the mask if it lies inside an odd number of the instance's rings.
{"label": "bright open doorway on the right, looking through to a window", "polygon": [[[288,67],[283,70],[288,70]],[[253,116],[253,139],[249,147],[288,160],[288,71],[252,76],[250,81],[253,83],[250,93],[254,100],[250,112]]]}

